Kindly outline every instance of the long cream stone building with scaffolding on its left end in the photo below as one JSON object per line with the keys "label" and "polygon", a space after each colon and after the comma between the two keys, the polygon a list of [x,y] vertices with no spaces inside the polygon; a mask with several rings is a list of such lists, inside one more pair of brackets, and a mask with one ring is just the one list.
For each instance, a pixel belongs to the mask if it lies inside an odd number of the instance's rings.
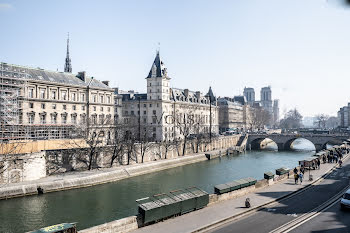
{"label": "long cream stone building with scaffolding on its left end", "polygon": [[2,140],[71,138],[72,128],[87,125],[88,119],[95,125],[114,118],[114,92],[108,81],[85,72],[0,63],[0,92],[0,121],[6,122],[0,130]]}

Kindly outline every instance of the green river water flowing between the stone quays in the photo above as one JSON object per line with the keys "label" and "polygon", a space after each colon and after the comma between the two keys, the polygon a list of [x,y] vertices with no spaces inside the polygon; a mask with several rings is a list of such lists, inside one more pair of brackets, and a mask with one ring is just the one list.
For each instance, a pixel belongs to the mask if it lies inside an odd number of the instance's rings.
{"label": "green river water flowing between the stone quays", "polygon": [[294,143],[298,151],[249,151],[88,188],[1,200],[0,232],[26,232],[62,222],[77,222],[78,229],[84,229],[135,215],[139,198],[190,186],[213,193],[217,184],[262,179],[264,172],[293,168],[315,154],[312,148],[300,140]]}

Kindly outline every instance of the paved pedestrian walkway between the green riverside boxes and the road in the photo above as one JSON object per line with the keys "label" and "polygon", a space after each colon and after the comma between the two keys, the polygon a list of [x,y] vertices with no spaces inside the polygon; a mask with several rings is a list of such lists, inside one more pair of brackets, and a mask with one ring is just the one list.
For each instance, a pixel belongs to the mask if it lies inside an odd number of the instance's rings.
{"label": "paved pedestrian walkway between the green riverside boxes and the road", "polygon": [[[350,164],[349,157],[349,154],[344,156],[344,165]],[[295,185],[294,177],[293,175],[290,175],[289,179],[285,179],[265,188],[257,189],[253,193],[249,193],[235,199],[214,203],[201,210],[139,228],[133,231],[133,233],[198,232],[209,228],[215,223],[222,222],[226,219],[235,218],[240,215],[242,216],[248,211],[251,211],[252,208],[258,209],[259,206],[273,203],[286,195],[291,195],[292,193],[301,190],[306,186],[310,186],[317,179],[321,178],[326,173],[329,173],[332,169],[335,169],[335,166],[335,163],[321,163],[320,169],[311,170],[313,181],[308,181],[309,171],[306,170],[302,184]],[[250,209],[244,207],[246,198],[250,198],[252,205]]]}

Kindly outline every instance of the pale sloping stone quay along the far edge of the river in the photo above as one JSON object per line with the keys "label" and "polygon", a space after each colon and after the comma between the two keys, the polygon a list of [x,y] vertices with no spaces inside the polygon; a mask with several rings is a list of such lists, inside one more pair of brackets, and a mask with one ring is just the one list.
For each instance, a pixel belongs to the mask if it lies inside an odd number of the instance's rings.
{"label": "pale sloping stone quay along the far edge of the river", "polygon": [[[219,151],[213,151],[214,153]],[[69,172],[52,175],[39,180],[0,185],[0,199],[38,194],[40,187],[45,192],[75,189],[113,182],[133,176],[157,172],[186,164],[207,160],[204,153],[93,171]]]}

